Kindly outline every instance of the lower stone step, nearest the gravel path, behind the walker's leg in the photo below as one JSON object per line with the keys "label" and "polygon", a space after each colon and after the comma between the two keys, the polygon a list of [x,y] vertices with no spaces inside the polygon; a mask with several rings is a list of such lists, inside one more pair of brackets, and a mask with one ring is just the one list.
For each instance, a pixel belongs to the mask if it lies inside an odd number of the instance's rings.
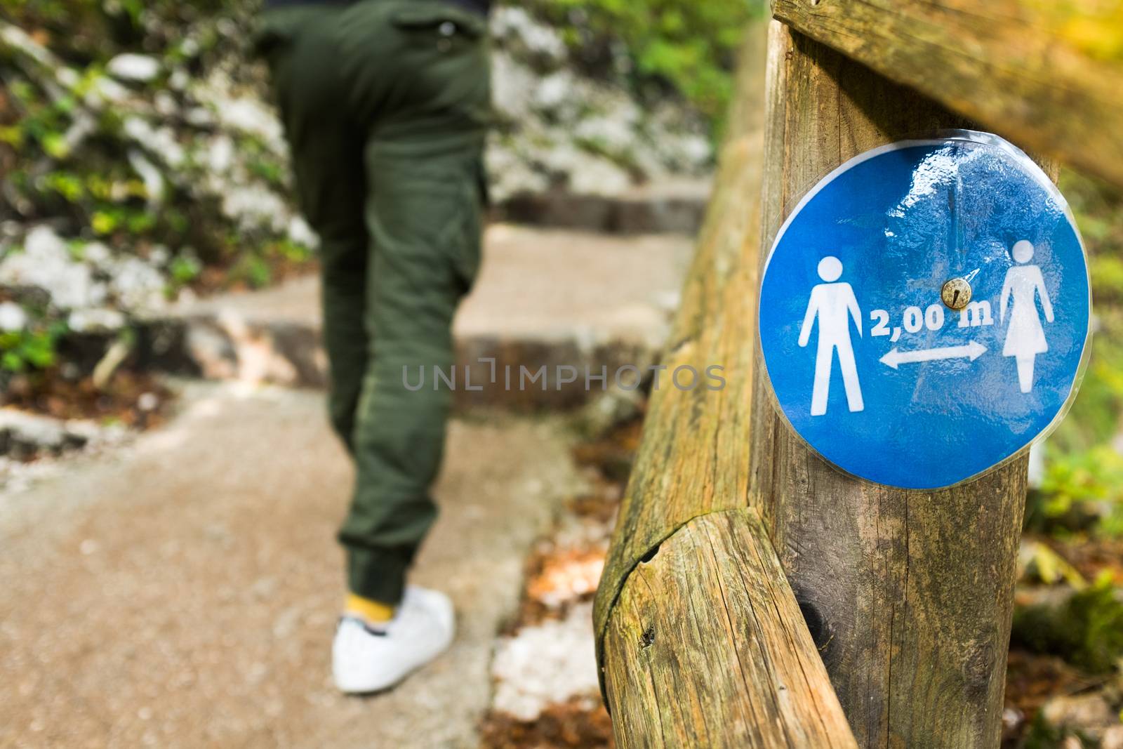
{"label": "lower stone step, nearest the gravel path, behind the walker's leg", "polygon": [[[685,235],[492,225],[454,326],[458,405],[572,408],[611,386],[618,371],[630,383],[620,368],[655,363],[691,252]],[[322,387],[318,280],[179,307],[145,322],[139,354],[141,366],[173,374]]]}

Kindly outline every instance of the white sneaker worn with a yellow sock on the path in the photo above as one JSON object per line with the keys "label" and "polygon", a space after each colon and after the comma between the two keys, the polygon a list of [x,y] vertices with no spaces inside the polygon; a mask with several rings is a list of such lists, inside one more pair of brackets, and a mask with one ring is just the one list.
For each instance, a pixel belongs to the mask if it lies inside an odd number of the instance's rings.
{"label": "white sneaker worn with a yellow sock on the path", "polygon": [[394,618],[372,627],[344,616],[331,646],[336,686],[347,694],[386,689],[440,655],[453,641],[453,602],[437,591],[409,585]]}

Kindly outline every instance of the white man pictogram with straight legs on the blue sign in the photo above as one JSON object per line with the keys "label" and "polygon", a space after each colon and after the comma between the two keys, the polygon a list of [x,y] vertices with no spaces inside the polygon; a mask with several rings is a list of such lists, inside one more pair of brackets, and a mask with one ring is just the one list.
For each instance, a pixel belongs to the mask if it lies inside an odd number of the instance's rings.
{"label": "white man pictogram with straight legs on the blue sign", "polygon": [[853,344],[850,342],[850,318],[861,336],[861,310],[853,295],[853,289],[844,281],[834,283],[842,275],[842,263],[837,257],[827,256],[819,261],[819,277],[827,283],[816,284],[811,290],[807,312],[800,329],[800,346],[811,340],[811,328],[819,320],[819,350],[815,354],[815,384],[811,390],[811,415],[827,413],[827,394],[831,386],[831,367],[834,351],[839,354],[846,402],[851,411],[861,411],[861,386],[858,383],[858,367],[853,363]]}

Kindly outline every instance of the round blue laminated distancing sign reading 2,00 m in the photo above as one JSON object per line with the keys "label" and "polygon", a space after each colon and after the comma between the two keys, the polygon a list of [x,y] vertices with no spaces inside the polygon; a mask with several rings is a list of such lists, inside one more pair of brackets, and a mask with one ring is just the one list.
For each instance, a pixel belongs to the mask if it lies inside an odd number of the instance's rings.
{"label": "round blue laminated distancing sign reading 2,00 m", "polygon": [[760,289],[778,407],[842,471],[931,490],[1046,433],[1076,392],[1088,268],[1021,150],[956,131],[857,156],[800,201]]}

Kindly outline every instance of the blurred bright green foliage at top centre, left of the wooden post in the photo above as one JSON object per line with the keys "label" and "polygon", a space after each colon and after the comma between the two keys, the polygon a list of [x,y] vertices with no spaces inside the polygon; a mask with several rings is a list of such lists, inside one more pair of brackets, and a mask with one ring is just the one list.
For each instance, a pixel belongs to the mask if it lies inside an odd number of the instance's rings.
{"label": "blurred bright green foliage at top centre, left of the wooden post", "polygon": [[611,48],[619,40],[640,82],[656,80],[719,119],[732,93],[732,68],[759,0],[550,0],[539,11],[566,27],[572,46]]}

